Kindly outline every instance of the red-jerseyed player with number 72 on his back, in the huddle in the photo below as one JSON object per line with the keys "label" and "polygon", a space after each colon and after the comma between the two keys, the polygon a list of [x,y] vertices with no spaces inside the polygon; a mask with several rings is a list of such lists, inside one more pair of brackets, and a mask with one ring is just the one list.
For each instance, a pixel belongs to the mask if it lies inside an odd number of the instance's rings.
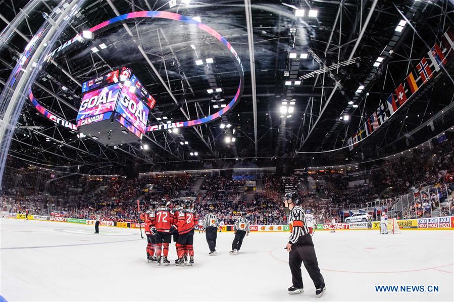
{"label": "red-jerseyed player with number 72 on his back, in the huddle", "polygon": [[174,220],[168,206],[169,202],[164,198],[161,199],[160,207],[155,211],[154,226],[151,229],[156,238],[156,256],[159,265],[161,265],[161,251],[164,256],[162,263],[164,265],[170,264],[167,255],[169,254],[169,244],[172,241]]}

